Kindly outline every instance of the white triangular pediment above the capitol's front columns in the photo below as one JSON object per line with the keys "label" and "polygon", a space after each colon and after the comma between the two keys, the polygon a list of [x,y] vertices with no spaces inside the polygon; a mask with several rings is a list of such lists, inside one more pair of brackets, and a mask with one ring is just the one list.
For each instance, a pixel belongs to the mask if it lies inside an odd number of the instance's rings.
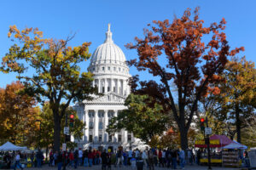
{"label": "white triangular pediment above the capitol's front columns", "polygon": [[103,96],[98,96],[93,100],[84,100],[83,102],[86,104],[125,104],[125,96],[121,96],[119,94],[115,94],[110,92]]}

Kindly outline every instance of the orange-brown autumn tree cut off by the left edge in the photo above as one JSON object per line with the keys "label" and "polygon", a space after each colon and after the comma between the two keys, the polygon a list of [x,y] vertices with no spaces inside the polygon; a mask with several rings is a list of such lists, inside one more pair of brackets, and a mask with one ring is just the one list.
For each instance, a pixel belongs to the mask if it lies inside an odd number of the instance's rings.
{"label": "orange-brown autumn tree cut off by the left edge", "polygon": [[[35,144],[32,130],[38,129],[36,120],[39,109],[36,100],[22,94],[24,86],[12,82],[0,88],[0,139],[1,143]],[[3,142],[2,142],[3,141]]]}

